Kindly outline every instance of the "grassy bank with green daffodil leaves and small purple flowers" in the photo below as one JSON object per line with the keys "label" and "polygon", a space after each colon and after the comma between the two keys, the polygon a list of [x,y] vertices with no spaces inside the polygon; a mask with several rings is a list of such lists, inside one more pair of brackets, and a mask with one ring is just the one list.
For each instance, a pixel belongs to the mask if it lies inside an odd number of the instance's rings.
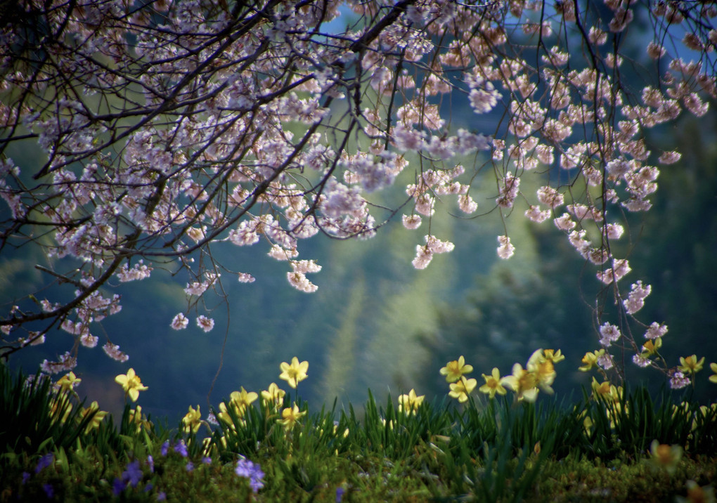
{"label": "grassy bank with green daffodil leaves and small purple flowers", "polygon": [[717,408],[668,391],[382,406],[369,393],[359,414],[242,390],[216,423],[190,410],[168,425],[1,379],[0,501],[697,502],[717,474]]}

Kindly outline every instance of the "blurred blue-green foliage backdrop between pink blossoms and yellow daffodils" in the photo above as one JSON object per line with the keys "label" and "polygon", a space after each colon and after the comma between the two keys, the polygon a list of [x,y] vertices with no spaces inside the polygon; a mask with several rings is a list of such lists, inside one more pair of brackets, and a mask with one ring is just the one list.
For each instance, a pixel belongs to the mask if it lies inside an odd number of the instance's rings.
{"label": "blurred blue-green foliage backdrop between pink blossoms and yellow daffodils", "polygon": [[[625,248],[620,250],[634,269],[623,281],[642,278],[652,284],[639,316],[648,324],[668,323],[663,353],[674,364],[678,356],[692,353],[717,360],[717,148],[708,141],[714,130],[714,124],[687,118],[652,138],[665,148],[678,148],[683,160],[661,170],[654,208],[645,216],[628,215],[631,234],[622,239]],[[483,187],[474,197],[490,205],[490,184]],[[516,205],[514,211],[523,208]],[[423,271],[413,269],[410,260],[415,245],[422,243],[426,221],[417,231],[393,221],[369,241],[318,237],[303,251],[323,266],[313,278],[319,285],[315,294],[290,288],[285,264],[266,257],[261,246],[219,244],[212,249],[214,259],[251,272],[257,282],[224,278],[228,304],[209,297],[217,326],[208,334],[195,325],[181,332],[169,328],[171,317],[186,309],[182,288],[188,278],[171,277],[155,264],[151,279],[111,289],[125,293],[123,311],[101,330],[130,354],[129,362],[115,363],[100,348],[80,348],[76,372],[84,380],[78,391],[119,411],[123,397],[113,377],[132,366],[149,386],[139,402],[143,408],[179,417],[189,404],[207,403],[220,364],[209,398],[214,406],[239,386],[265,389],[278,380],[279,363],[297,355],[310,362],[310,378],[300,393],[317,403],[331,403],[334,397],[343,404],[361,403],[366,388],[377,396],[412,387],[442,396],[447,388],[438,369],[447,360],[465,355],[480,380],[480,373],[490,373],[493,366],[509,373],[514,362],[524,364],[542,347],[566,354],[556,368],[556,390],[569,393],[589,383],[589,376],[576,368],[597,340],[592,308],[600,285],[592,267],[550,222],[531,224],[518,214],[506,222],[516,255],[499,261],[495,236],[503,234],[503,224],[498,215],[436,217],[435,235],[455,241],[456,249],[435,257]],[[30,246],[5,250],[0,257],[3,291],[21,295],[38,288],[42,277],[34,264],[43,260]],[[606,298],[609,311],[612,301]],[[102,338],[102,331],[95,333]],[[32,372],[42,358],[55,358],[71,343],[70,335],[54,332],[45,345],[22,351],[11,364]],[[630,357],[625,355],[630,375],[663,383],[657,373],[633,368]],[[715,396],[708,385],[697,391],[698,398]]]}

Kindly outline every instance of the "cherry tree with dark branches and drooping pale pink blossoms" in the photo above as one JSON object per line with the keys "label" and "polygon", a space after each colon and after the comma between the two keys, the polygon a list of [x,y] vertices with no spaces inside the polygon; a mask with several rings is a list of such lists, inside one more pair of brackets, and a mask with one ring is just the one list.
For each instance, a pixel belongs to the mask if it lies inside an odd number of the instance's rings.
{"label": "cherry tree with dark branches and drooping pale pink blossoms", "polygon": [[[11,3],[12,4],[12,3]],[[4,7],[0,72],[0,246],[38,246],[57,298],[4,298],[2,355],[58,328],[75,345],[121,308],[118,282],[183,270],[175,330],[214,320],[201,298],[251,274],[211,246],[257,246],[317,286],[300,252],[316,234],[369,239],[392,216],[417,237],[414,267],[452,251],[437,201],[561,229],[603,284],[593,360],[611,350],[688,382],[640,320],[651,292],[631,271],[627,215],[650,210],[676,151],[645,130],[708,112],[717,96],[711,2],[557,0],[52,0]],[[640,54],[632,48],[642,47]],[[461,123],[459,110],[475,120]],[[465,112],[463,112],[465,116]],[[471,128],[478,123],[480,128]],[[14,153],[39,149],[36,166]],[[493,200],[472,198],[495,183]],[[536,193],[523,186],[539,186]],[[402,203],[382,189],[402,183]],[[518,211],[516,209],[520,208]],[[510,218],[508,218],[510,217]],[[619,249],[622,254],[614,250]],[[195,257],[200,257],[195,260]],[[4,295],[4,297],[6,297]],[[647,340],[647,346],[643,342]],[[655,342],[659,341],[659,342]],[[128,358],[103,341],[110,358]],[[592,361],[592,360],[591,360]]]}

